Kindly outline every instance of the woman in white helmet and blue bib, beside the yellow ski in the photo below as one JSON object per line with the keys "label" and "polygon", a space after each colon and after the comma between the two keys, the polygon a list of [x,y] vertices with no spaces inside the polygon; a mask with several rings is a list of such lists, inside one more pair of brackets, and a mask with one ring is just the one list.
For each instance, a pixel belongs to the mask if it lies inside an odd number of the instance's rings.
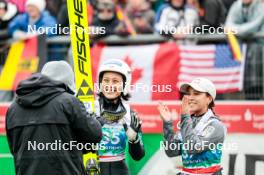
{"label": "woman in white helmet and blue bib, beside the yellow ski", "polygon": [[118,59],[111,59],[99,67],[99,99],[95,103],[97,115],[105,119],[101,145],[98,151],[101,175],[129,175],[125,163],[125,148],[134,160],[144,155],[141,121],[125,103],[129,99],[131,70]]}

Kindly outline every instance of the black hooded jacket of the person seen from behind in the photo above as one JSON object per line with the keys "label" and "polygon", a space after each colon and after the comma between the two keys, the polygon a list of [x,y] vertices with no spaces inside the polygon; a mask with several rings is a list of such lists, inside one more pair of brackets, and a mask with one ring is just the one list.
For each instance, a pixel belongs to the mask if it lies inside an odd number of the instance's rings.
{"label": "black hooded jacket of the person seen from behind", "polygon": [[69,145],[100,142],[100,123],[65,84],[41,74],[22,81],[16,94],[6,118],[16,174],[84,175],[83,150]]}

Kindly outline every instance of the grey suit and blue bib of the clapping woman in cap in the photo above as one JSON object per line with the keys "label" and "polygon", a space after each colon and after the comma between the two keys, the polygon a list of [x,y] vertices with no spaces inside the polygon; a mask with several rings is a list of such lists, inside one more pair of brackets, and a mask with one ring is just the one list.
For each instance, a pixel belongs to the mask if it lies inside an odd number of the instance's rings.
{"label": "grey suit and blue bib of the clapping woman in cap", "polygon": [[210,109],[202,116],[181,115],[180,132],[176,134],[172,121],[164,122],[163,129],[165,144],[179,145],[174,150],[168,146],[165,151],[169,157],[182,156],[180,175],[221,175],[226,128]]}

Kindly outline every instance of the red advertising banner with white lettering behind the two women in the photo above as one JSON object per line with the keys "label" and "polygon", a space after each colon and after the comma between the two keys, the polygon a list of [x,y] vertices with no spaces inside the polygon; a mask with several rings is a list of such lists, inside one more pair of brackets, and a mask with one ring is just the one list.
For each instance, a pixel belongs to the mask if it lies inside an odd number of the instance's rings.
{"label": "red advertising banner with white lettering behind the two women", "polygon": [[[166,104],[166,102],[165,102]],[[178,122],[179,102],[168,102],[168,107]],[[5,113],[9,104],[0,104],[0,134],[5,133]],[[143,120],[144,133],[161,133],[162,121],[157,103],[132,104]],[[227,126],[228,133],[264,134],[264,102],[216,102],[215,112]]]}

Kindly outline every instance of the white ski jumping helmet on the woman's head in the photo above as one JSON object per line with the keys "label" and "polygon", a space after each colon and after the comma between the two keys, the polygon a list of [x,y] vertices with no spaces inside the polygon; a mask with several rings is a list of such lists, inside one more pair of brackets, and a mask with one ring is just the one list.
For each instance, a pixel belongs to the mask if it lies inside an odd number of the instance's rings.
{"label": "white ski jumping helmet on the woman's head", "polygon": [[[100,77],[102,77],[102,74],[104,72],[117,72],[120,73],[121,75],[123,75],[126,79],[125,79],[125,86],[123,89],[123,94],[127,95],[129,93],[129,88],[130,88],[130,84],[131,84],[131,79],[132,79],[132,75],[131,75],[131,69],[130,67],[127,65],[127,63],[125,63],[124,61],[120,60],[120,59],[109,59],[106,60],[105,62],[102,63],[102,65],[99,67],[99,87],[100,87]],[[101,89],[101,88],[99,88]],[[100,90],[101,92],[101,90]]]}

